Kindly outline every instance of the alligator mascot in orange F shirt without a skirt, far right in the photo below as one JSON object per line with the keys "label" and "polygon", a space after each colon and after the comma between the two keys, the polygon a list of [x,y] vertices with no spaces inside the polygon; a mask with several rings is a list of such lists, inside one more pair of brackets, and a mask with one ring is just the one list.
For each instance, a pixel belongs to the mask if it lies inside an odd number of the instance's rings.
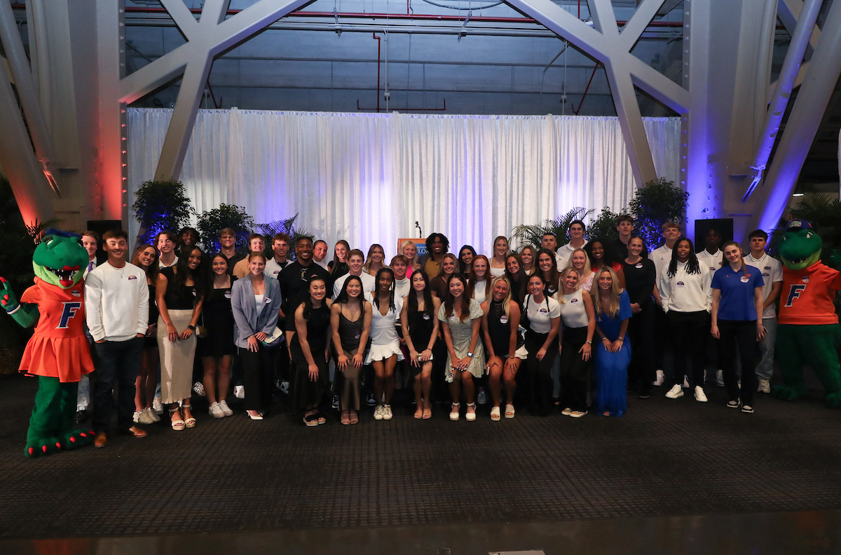
{"label": "alligator mascot in orange F shirt without a skirt, far right", "polygon": [[[808,362],[827,392],[827,404],[841,408],[841,376],[838,345],[841,327],[835,313],[835,291],[841,290],[841,274],[821,263],[821,237],[805,220],[792,220],[780,241],[783,289],[780,295],[780,325],[776,354],[784,386],[776,386],[776,398],[806,397],[803,362]],[[838,264],[838,253],[833,255]]]}

